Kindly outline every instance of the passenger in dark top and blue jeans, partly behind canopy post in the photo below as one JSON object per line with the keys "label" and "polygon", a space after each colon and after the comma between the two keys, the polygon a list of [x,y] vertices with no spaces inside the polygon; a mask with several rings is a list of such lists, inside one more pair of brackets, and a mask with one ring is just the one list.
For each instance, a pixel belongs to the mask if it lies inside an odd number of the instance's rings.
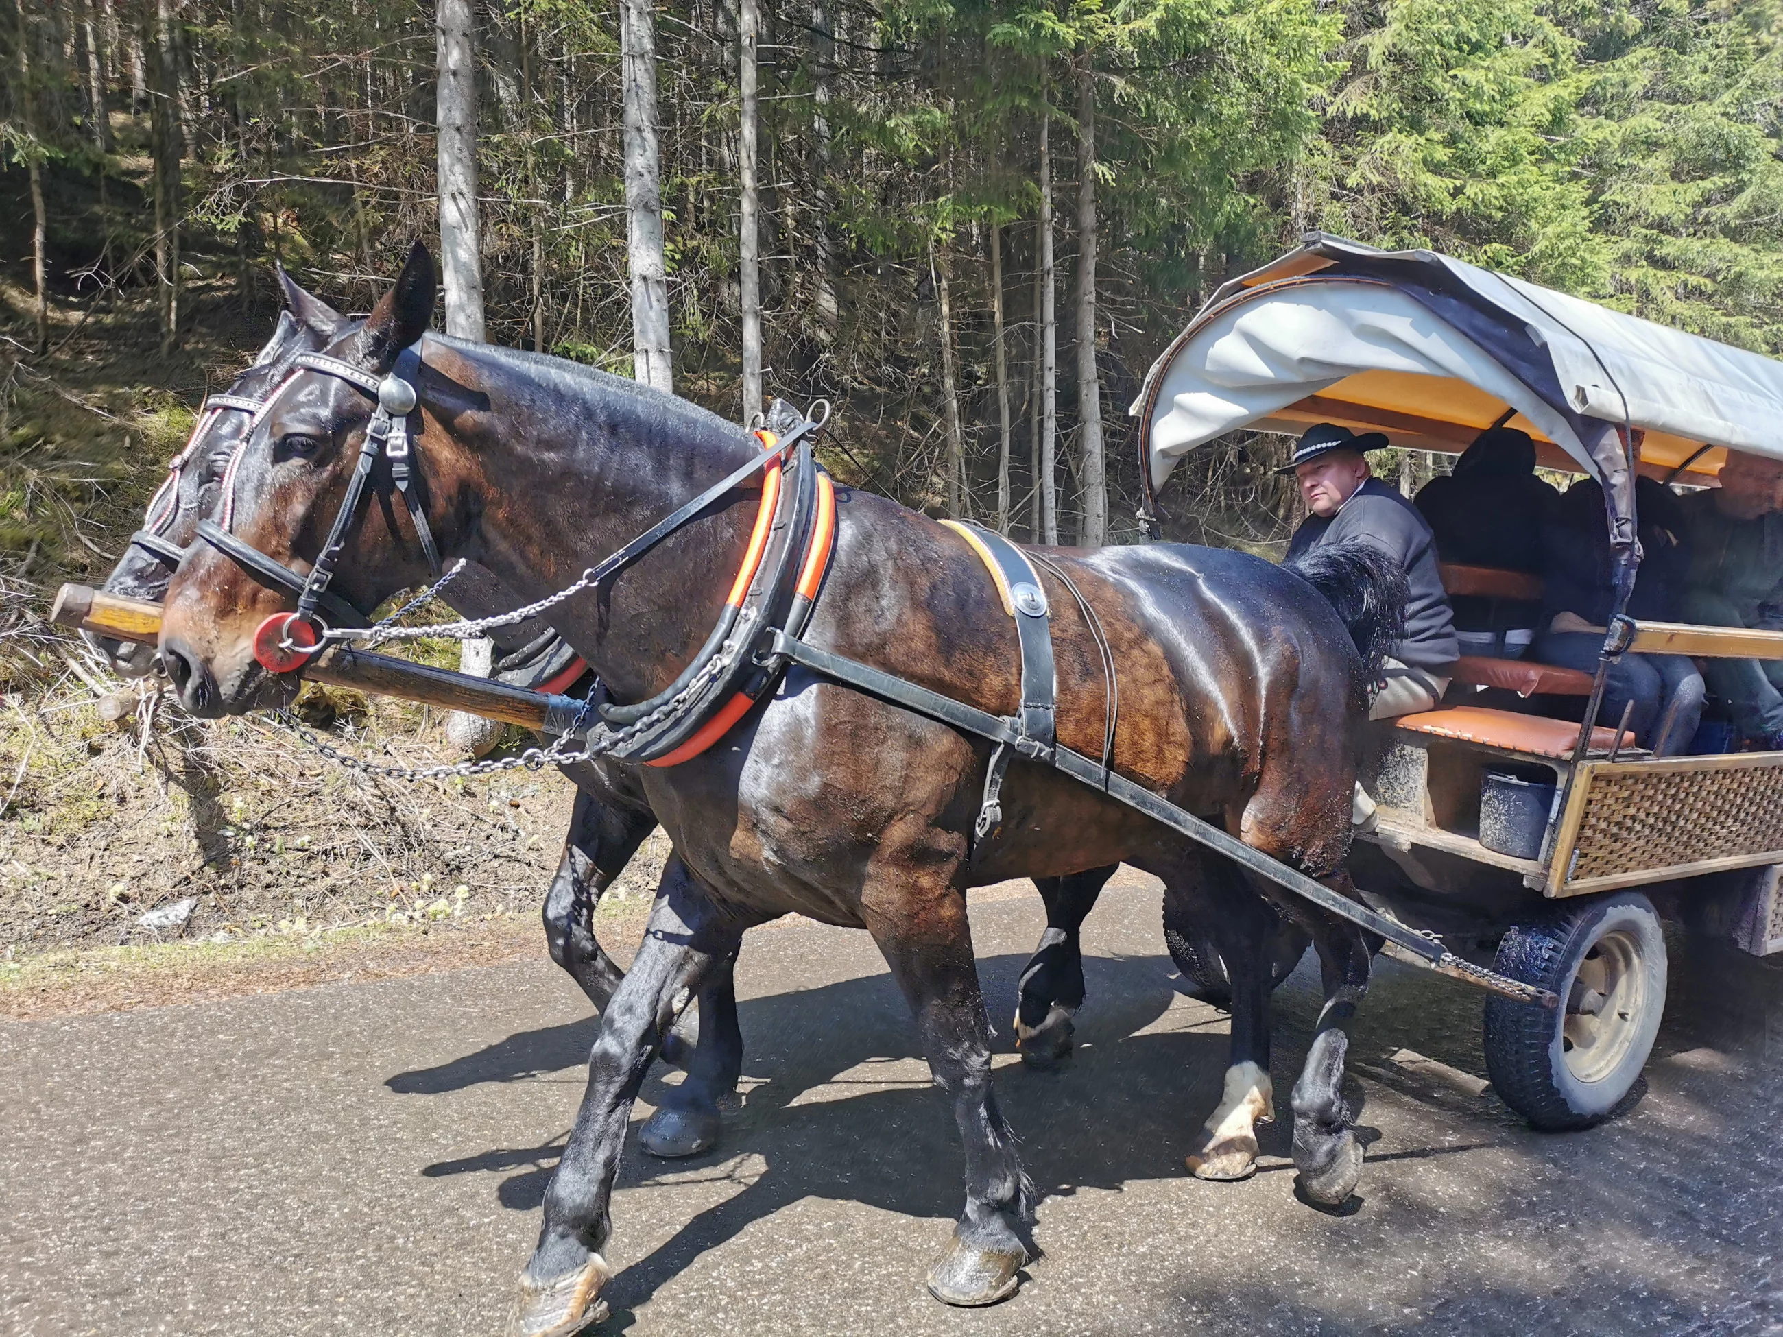
{"label": "passenger in dark top and blue jeans, partly behind canopy post", "polygon": [[[1651,478],[1635,480],[1640,570],[1628,615],[1672,622],[1690,569],[1678,497]],[[1587,478],[1567,488],[1542,529],[1541,631],[1530,658],[1565,668],[1598,670],[1605,626],[1615,597],[1610,572],[1610,526],[1603,487]],[[1628,727],[1655,756],[1683,752],[1703,717],[1703,676],[1681,654],[1624,654],[1610,665],[1599,724],[1614,726],[1633,701]]]}

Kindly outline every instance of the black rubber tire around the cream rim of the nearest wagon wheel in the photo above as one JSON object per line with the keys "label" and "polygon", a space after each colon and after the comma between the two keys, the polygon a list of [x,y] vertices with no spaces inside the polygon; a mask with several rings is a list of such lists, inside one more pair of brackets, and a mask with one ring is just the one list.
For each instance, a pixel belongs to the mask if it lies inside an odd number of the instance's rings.
{"label": "black rubber tire around the cream rim of the nearest wagon wheel", "polygon": [[1623,1061],[1603,1079],[1582,1082],[1565,1064],[1564,1013],[1492,997],[1485,1004],[1485,1070],[1510,1109],[1542,1132],[1573,1132],[1615,1118],[1640,1098],[1646,1068],[1665,1013],[1665,934],[1640,891],[1615,891],[1562,906],[1519,923],[1498,945],[1503,975],[1560,995],[1562,1009],[1592,943],[1621,931],[1635,939],[1646,972],[1644,1016]]}

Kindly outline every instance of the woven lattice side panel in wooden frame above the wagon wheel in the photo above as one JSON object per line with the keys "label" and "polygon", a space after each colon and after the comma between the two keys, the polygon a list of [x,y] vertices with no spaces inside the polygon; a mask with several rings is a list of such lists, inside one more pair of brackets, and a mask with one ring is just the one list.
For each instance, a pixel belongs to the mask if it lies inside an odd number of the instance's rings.
{"label": "woven lattice side panel in wooden frame above the wagon wheel", "polygon": [[1567,882],[1783,850],[1778,767],[1598,774],[1587,797]]}

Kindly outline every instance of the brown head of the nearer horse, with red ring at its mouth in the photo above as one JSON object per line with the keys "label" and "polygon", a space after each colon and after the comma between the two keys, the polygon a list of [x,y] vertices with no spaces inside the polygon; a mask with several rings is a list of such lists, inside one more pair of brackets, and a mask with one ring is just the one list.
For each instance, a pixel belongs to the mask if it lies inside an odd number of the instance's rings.
{"label": "brown head of the nearer horse, with red ring at its mouth", "polygon": [[[376,383],[426,333],[433,299],[433,257],[417,244],[371,316],[335,330],[321,353]],[[449,364],[451,351],[440,351]],[[442,512],[430,528],[449,544],[462,533],[446,513],[458,494],[455,469],[462,453],[451,449],[453,437],[439,414],[449,421],[464,401],[433,367],[421,380],[426,403],[407,415],[410,433],[428,442],[426,456],[415,455],[414,487],[423,506]],[[348,497],[376,406],[376,396],[351,380],[292,365],[237,444],[218,497],[218,529],[307,576]],[[346,517],[341,576],[330,586],[330,595],[357,610],[376,608],[430,570],[414,522],[392,504],[392,494],[390,465],[380,456],[358,488],[355,513]],[[289,588],[255,578],[214,542],[194,544],[168,585],[160,633],[160,658],[185,708],[223,715],[287,704],[296,695],[296,674],[267,672],[255,660],[253,640],[267,617],[292,608],[296,595]]]}

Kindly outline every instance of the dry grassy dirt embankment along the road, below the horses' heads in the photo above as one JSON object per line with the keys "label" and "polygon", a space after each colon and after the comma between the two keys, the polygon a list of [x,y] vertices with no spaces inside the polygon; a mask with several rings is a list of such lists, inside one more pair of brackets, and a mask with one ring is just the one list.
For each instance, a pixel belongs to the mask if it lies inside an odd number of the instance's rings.
{"label": "dry grassy dirt embankment along the road, below the horses' heads", "polygon": [[[267,717],[185,718],[82,651],[43,631],[61,681],[0,697],[0,1016],[544,950],[572,800],[555,768],[367,777]],[[303,715],[341,751],[453,759],[437,715],[308,692]],[[656,833],[606,913],[642,913],[665,857]]]}

